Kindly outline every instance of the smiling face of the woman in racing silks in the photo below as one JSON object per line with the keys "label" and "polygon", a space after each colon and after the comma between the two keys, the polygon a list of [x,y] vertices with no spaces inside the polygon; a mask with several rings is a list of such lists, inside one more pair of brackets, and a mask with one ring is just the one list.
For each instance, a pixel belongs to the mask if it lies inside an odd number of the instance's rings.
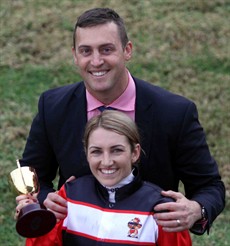
{"label": "smiling face of the woman in racing silks", "polygon": [[91,172],[105,186],[114,186],[127,177],[140,156],[140,145],[134,150],[126,136],[97,128],[88,139],[87,159]]}

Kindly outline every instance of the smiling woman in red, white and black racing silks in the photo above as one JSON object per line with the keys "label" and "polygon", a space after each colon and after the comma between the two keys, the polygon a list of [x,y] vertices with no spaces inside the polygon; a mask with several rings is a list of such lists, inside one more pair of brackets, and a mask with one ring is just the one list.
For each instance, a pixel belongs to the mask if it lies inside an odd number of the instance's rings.
{"label": "smiling woman in red, white and black racing silks", "polygon": [[27,245],[191,245],[188,231],[164,232],[154,219],[153,207],[172,200],[141,180],[139,134],[128,116],[107,110],[92,118],[84,148],[92,175],[63,185],[66,218],[48,234],[27,239]]}

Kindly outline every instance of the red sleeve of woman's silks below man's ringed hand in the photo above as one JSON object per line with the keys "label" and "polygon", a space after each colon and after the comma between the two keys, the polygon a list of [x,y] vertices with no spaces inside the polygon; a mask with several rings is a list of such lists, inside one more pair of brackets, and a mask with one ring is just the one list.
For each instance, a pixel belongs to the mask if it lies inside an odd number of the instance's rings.
{"label": "red sleeve of woman's silks below man's ringed hand", "polygon": [[165,232],[159,226],[157,245],[173,245],[173,246],[192,246],[192,240],[188,230],[181,232]]}

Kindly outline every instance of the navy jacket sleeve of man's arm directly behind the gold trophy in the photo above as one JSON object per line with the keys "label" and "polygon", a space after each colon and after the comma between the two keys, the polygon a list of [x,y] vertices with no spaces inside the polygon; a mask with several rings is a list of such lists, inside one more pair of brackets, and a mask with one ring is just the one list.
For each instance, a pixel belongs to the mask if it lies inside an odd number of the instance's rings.
{"label": "navy jacket sleeve of man's arm directly behind the gold trophy", "polygon": [[46,129],[44,107],[44,94],[42,94],[38,103],[38,113],[32,122],[20,160],[22,166],[32,166],[36,169],[40,184],[38,200],[41,204],[47,194],[54,191],[52,180],[55,179],[58,169]]}

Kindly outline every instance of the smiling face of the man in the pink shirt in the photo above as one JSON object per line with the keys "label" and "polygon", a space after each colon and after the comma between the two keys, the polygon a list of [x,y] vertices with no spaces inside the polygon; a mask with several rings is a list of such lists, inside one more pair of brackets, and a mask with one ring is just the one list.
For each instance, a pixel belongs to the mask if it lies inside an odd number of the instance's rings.
{"label": "smiling face of the man in the pink shirt", "polygon": [[74,61],[87,90],[109,104],[125,90],[128,76],[125,62],[131,58],[132,44],[122,48],[118,27],[113,22],[77,28]]}

